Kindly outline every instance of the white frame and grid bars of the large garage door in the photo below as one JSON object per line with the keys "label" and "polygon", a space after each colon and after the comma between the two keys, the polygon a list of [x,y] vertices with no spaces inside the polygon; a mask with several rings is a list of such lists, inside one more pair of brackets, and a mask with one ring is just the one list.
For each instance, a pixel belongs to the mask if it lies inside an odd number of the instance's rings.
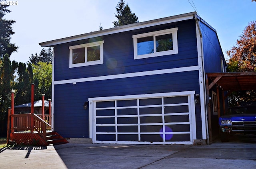
{"label": "white frame and grid bars of the large garage door", "polygon": [[[92,139],[92,143],[120,143],[120,144],[193,144],[193,140],[196,140],[196,115],[195,115],[195,102],[194,102],[194,94],[195,91],[184,91],[184,92],[166,92],[166,93],[154,93],[154,94],[138,94],[138,95],[126,95],[126,96],[108,96],[108,97],[96,97],[89,98],[89,126],[90,126],[90,138]],[[96,102],[105,102],[105,101],[117,101],[117,100],[133,100],[133,99],[148,99],[148,98],[163,98],[163,97],[175,97],[175,96],[188,96],[188,112],[179,113],[177,115],[187,114],[189,115],[190,131],[189,132],[173,132],[168,134],[190,134],[190,141],[164,141],[159,142],[149,142],[149,141],[100,141],[96,140]],[[174,104],[173,106],[184,105],[184,103]],[[162,105],[164,107],[164,105]],[[116,107],[115,107],[116,108]],[[175,114],[173,114],[175,115]],[[143,116],[143,115],[139,115]],[[153,115],[154,116],[154,115]],[[109,117],[109,116],[106,116]],[[115,114],[115,118],[117,119],[117,115]],[[139,123],[139,122],[138,122]],[[163,123],[164,124],[164,123]],[[174,123],[175,124],[175,123]],[[97,124],[98,125],[98,124]],[[116,124],[117,127],[118,124]],[[123,125],[122,125],[123,126]],[[127,125],[129,126],[129,124]],[[117,131],[116,131],[117,137]],[[140,133],[139,133],[140,134]],[[150,134],[150,133],[147,133]],[[152,133],[154,134],[154,133]],[[162,133],[163,136],[166,134]]]}

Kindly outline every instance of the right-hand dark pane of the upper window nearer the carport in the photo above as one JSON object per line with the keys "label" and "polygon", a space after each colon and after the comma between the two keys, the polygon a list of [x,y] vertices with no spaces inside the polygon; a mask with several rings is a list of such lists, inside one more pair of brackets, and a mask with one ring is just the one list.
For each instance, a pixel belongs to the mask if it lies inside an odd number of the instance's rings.
{"label": "right-hand dark pane of the upper window nearer the carport", "polygon": [[172,33],[156,36],[156,52],[173,50]]}

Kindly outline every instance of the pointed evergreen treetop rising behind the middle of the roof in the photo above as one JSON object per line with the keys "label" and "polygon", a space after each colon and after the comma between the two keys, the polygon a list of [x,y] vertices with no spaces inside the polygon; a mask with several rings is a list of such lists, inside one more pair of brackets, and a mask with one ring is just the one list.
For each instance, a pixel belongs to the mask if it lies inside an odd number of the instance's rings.
{"label": "pointed evergreen treetop rising behind the middle of the roof", "polygon": [[114,27],[139,22],[138,17],[135,15],[135,13],[132,13],[128,4],[125,5],[124,0],[120,0],[120,2],[118,2],[116,12],[117,14],[115,14],[115,16],[118,21],[113,22]]}

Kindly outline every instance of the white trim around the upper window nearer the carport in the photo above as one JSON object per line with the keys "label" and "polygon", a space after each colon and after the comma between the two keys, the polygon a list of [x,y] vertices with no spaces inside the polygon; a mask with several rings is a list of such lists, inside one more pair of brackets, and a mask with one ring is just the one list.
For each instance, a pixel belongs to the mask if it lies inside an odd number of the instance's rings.
{"label": "white trim around the upper window nearer the carport", "polygon": [[[177,31],[178,31],[178,28],[171,28],[171,29],[164,29],[164,30],[160,30],[160,31],[154,31],[154,32],[148,32],[148,33],[133,35],[132,38],[133,38],[134,59],[142,59],[142,58],[148,58],[148,57],[157,57],[157,56],[177,54],[178,53]],[[156,52],[156,36],[166,35],[166,34],[169,34],[169,33],[172,33],[173,50]],[[148,37],[148,36],[153,36],[153,39],[154,39],[154,53],[138,55],[137,39],[142,38],[142,37]]]}

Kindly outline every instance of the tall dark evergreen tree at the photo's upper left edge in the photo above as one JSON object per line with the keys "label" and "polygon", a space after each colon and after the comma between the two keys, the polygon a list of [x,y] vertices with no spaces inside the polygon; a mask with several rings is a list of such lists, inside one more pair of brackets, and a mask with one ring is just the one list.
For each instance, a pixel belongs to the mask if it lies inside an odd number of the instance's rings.
{"label": "tall dark evergreen tree at the photo's upper left edge", "polygon": [[4,16],[6,13],[11,12],[6,9],[7,5],[0,5],[0,58],[2,59],[7,53],[10,56],[14,51],[17,51],[15,43],[10,43],[11,35],[14,34],[12,31],[12,24],[14,20],[6,20]]}

